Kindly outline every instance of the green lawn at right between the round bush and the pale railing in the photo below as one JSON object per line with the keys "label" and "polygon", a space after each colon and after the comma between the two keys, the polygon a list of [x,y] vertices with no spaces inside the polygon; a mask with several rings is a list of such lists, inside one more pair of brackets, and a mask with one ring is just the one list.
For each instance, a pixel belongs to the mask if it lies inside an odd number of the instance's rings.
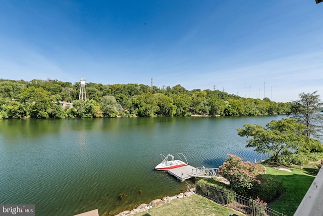
{"label": "green lawn at right between the round bush and the pale railing", "polygon": [[309,175],[306,171],[300,169],[291,169],[292,172],[277,170],[273,167],[266,167],[266,173],[278,176],[283,181],[285,194],[270,208],[284,213],[293,215],[305,196],[308,188],[312,184],[315,176]]}

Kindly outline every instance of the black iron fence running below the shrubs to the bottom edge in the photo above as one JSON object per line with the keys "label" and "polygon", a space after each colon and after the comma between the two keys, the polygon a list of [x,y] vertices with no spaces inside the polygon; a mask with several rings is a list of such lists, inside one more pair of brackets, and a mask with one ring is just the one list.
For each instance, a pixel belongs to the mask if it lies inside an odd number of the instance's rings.
{"label": "black iron fence running below the shrubs to the bottom edge", "polygon": [[[214,188],[203,183],[195,183],[195,193],[206,197],[226,207],[233,208],[250,216],[284,216],[283,213],[267,207],[261,201],[256,201],[236,194],[230,190]],[[286,215],[285,215],[286,216]]]}

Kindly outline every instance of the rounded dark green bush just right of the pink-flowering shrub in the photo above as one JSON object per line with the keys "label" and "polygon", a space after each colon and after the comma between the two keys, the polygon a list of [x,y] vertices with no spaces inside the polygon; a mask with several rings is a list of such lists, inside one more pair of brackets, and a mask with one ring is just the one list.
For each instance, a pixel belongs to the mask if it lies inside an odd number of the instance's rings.
{"label": "rounded dark green bush just right of the pink-flowering shrub", "polygon": [[253,199],[259,197],[265,202],[271,202],[275,197],[281,194],[283,190],[282,180],[273,175],[258,175],[256,177],[261,184],[255,184],[249,191],[249,196]]}

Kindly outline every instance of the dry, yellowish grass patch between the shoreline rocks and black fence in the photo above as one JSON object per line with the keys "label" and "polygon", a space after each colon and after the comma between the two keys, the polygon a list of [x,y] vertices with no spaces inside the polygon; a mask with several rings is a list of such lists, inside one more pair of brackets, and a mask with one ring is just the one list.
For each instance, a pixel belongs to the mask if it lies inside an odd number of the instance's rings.
{"label": "dry, yellowish grass patch between the shoreline rocks and black fence", "polygon": [[228,216],[229,214],[244,215],[243,213],[226,208],[214,203],[205,197],[192,195],[189,197],[174,199],[170,203],[159,207],[150,208],[147,211],[136,213],[136,216],[165,216],[165,215],[217,215]]}

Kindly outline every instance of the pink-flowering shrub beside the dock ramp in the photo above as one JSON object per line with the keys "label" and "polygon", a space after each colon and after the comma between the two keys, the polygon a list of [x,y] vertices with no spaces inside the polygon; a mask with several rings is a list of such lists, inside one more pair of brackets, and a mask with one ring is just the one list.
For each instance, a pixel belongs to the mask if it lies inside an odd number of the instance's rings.
{"label": "pink-flowering shrub beside the dock ramp", "polygon": [[246,196],[254,184],[261,184],[255,177],[263,171],[263,166],[250,161],[242,161],[237,155],[229,157],[219,167],[219,173],[230,182],[230,188]]}

